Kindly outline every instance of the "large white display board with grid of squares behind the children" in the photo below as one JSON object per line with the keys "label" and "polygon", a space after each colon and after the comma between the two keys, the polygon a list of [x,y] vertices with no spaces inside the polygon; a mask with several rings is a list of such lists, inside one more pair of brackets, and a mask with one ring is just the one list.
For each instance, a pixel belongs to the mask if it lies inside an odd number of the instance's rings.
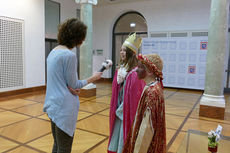
{"label": "large white display board with grid of squares behind the children", "polygon": [[208,37],[143,38],[142,54],[164,61],[164,86],[204,89]]}

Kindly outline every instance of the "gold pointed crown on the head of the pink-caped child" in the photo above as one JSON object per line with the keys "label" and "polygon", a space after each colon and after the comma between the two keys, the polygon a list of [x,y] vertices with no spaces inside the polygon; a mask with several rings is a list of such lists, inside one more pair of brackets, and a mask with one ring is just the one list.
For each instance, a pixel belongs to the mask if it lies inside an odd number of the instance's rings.
{"label": "gold pointed crown on the head of the pink-caped child", "polygon": [[142,39],[140,37],[137,37],[136,33],[134,33],[125,40],[123,46],[126,46],[130,48],[133,52],[137,53],[138,49],[141,46],[141,43]]}

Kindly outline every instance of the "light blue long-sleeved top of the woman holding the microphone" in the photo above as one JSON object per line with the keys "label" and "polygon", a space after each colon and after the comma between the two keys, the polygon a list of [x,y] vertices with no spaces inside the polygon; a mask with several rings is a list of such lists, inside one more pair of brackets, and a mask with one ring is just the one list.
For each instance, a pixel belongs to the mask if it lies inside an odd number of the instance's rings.
{"label": "light blue long-sleeved top of the woman holding the microphone", "polygon": [[76,129],[79,97],[68,86],[82,88],[86,80],[78,80],[76,55],[68,49],[52,50],[47,58],[47,86],[43,111],[69,136]]}

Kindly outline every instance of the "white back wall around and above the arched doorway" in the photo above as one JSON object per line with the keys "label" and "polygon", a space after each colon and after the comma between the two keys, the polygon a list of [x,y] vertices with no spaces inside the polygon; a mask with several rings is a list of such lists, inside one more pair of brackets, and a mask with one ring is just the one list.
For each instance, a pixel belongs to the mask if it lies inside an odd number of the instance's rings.
{"label": "white back wall around and above the arched doorway", "polygon": [[[210,0],[152,0],[95,6],[93,10],[93,49],[103,49],[103,56],[94,56],[93,71],[105,58],[112,58],[112,30],[123,13],[141,13],[151,31],[208,30]],[[111,78],[111,72],[104,77]]]}

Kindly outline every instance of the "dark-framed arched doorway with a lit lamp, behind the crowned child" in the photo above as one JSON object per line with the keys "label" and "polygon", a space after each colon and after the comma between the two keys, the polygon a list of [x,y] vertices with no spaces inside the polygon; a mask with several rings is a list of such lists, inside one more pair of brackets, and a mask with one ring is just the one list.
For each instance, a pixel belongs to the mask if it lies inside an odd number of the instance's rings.
{"label": "dark-framed arched doorway with a lit lamp, behind the crowned child", "polygon": [[128,35],[136,32],[139,37],[147,37],[147,23],[139,12],[126,12],[122,14],[113,26],[112,44],[112,77],[120,60],[120,48]]}

